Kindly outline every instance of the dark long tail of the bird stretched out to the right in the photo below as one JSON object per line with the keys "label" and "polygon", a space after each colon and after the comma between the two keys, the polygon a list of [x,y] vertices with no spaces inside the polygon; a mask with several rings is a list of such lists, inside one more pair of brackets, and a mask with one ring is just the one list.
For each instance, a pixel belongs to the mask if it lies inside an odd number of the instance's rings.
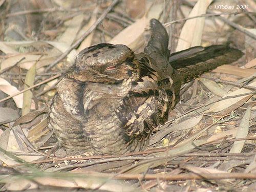
{"label": "dark long tail of the bird stretched out to the right", "polygon": [[194,47],[170,55],[169,62],[186,83],[218,66],[238,60],[243,52],[228,45],[214,45],[206,48]]}

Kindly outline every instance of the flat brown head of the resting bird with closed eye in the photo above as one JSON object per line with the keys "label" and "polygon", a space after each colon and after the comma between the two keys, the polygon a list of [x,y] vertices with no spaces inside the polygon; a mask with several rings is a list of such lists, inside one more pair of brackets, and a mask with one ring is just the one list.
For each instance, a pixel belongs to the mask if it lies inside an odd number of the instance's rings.
{"label": "flat brown head of the resting bird with closed eye", "polygon": [[136,76],[138,61],[124,45],[98,44],[82,50],[69,75],[80,81],[113,83]]}

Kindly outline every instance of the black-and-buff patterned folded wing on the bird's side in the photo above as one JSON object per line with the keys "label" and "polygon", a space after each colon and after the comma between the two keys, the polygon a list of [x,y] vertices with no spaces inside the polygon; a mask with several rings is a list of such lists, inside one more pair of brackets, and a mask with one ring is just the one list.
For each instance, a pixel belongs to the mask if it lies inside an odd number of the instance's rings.
{"label": "black-and-buff patterned folded wing on the bird's side", "polygon": [[124,133],[140,138],[148,136],[149,132],[156,130],[159,124],[166,121],[173,93],[161,88],[163,81],[159,81],[159,74],[148,66],[150,61],[146,57],[141,58],[139,62],[139,79],[123,98],[121,110],[118,109],[117,115],[124,122]]}

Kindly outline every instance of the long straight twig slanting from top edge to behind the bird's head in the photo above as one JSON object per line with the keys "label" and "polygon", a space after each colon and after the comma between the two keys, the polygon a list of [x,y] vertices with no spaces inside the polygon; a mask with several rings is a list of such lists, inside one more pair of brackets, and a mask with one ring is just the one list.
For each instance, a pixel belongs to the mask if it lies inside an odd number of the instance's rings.
{"label": "long straight twig slanting from top edge to behind the bird's head", "polygon": [[86,31],[83,33],[83,35],[67,50],[65,51],[60,57],[58,57],[55,61],[53,61],[47,68],[46,72],[51,70],[59,61],[61,61],[63,58],[65,58],[73,49],[75,49],[77,46],[81,44],[84,38],[86,38],[103,20],[103,18],[108,14],[111,9],[117,4],[119,0],[114,0],[113,3],[106,8],[106,10],[100,15],[100,17],[97,19],[97,21]]}

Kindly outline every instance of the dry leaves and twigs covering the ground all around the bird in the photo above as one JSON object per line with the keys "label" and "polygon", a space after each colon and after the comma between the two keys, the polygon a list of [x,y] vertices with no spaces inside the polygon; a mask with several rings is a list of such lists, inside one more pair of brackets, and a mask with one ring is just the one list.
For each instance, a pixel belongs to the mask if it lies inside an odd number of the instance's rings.
{"label": "dry leaves and twigs covering the ground all around the bird", "polygon": [[[256,89],[255,30],[250,29],[255,3],[245,1],[247,14],[219,9],[215,13],[224,15],[210,16],[213,7],[227,1],[174,1],[178,7],[174,16],[168,15],[173,1],[143,0],[136,10],[135,0],[13,2],[0,1],[1,191],[214,191],[220,187],[246,191],[254,187],[255,90],[246,86]],[[112,3],[114,8],[94,26]],[[144,31],[152,17],[173,22],[166,28],[173,25],[177,31],[171,37],[174,50],[229,41],[245,56],[188,83],[169,121],[152,134],[146,151],[122,157],[68,156],[56,151],[47,112],[60,74],[80,50],[99,42],[143,50]],[[17,27],[10,27],[14,23]],[[81,40],[79,47],[70,49],[77,40]],[[64,59],[49,68],[67,51]],[[26,88],[29,91],[23,93]],[[6,100],[8,95],[11,98]]]}

